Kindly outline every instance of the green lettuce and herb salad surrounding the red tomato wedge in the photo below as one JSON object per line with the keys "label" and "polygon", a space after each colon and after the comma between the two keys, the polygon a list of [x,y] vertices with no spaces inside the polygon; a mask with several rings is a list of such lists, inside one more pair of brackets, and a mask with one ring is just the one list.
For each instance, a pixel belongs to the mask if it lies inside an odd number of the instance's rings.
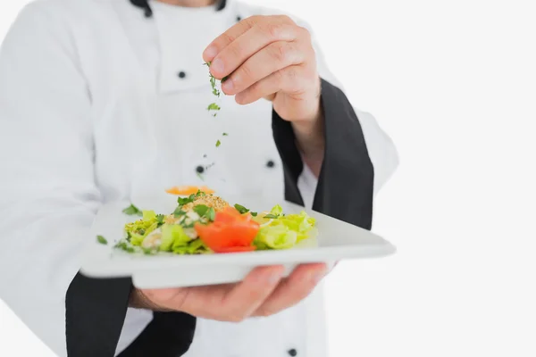
{"label": "green lettuce and herb salad surrounding the red tomato wedge", "polygon": [[[154,211],[132,213],[134,211],[131,207],[135,207],[133,205],[123,210],[125,214],[141,215],[141,218],[125,225],[125,235],[115,248],[127,253],[146,254],[214,253],[198,237],[199,227],[196,225],[215,224],[217,212],[229,208],[229,203],[220,197],[206,195],[202,191],[181,196],[177,199],[177,203],[176,209],[169,215],[156,214]],[[269,212],[251,212],[238,203],[234,205],[234,209],[236,214],[245,218],[249,216],[250,220],[258,224],[252,244],[256,250],[289,249],[304,239],[316,236],[316,221],[306,212],[284,214],[279,204],[272,207]],[[97,236],[97,240],[99,243],[107,244],[102,236]]]}

